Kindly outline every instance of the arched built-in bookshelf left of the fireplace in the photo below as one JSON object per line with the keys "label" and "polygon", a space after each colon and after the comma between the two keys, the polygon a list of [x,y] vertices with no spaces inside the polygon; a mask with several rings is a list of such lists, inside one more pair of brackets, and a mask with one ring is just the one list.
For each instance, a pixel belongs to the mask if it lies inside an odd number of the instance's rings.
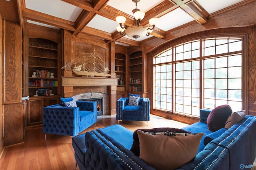
{"label": "arched built-in bookshelf left of the fireplace", "polygon": [[[43,94],[39,93],[42,91]],[[28,94],[29,96],[58,95],[57,43],[47,39],[29,39]]]}

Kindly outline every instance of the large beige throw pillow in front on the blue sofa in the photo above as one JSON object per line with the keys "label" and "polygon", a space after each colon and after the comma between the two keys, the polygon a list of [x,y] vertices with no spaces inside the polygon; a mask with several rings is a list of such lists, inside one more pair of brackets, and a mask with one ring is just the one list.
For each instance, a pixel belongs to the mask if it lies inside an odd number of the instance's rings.
{"label": "large beige throw pillow in front on the blue sofa", "polygon": [[198,133],[170,137],[138,131],[140,158],[155,169],[177,169],[196,156],[203,135]]}

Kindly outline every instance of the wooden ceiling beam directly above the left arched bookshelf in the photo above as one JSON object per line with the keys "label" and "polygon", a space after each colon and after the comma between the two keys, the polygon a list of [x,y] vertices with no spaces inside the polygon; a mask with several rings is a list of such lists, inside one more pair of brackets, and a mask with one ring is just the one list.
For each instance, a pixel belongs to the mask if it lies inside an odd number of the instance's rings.
{"label": "wooden ceiling beam directly above the left arched bookshelf", "polygon": [[50,16],[48,14],[44,14],[41,12],[37,12],[34,10],[30,10],[28,8],[24,9],[22,12],[22,16],[26,20],[32,20],[40,23],[44,23],[47,25],[52,25],[55,27],[67,29],[70,31],[75,31],[75,23],[72,21],[64,20],[58,17]]}

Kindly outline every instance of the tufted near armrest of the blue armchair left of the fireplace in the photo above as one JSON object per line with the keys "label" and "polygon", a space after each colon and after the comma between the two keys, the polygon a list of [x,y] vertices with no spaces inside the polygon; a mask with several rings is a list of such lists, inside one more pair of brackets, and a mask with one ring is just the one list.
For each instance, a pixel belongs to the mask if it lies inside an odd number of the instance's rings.
{"label": "tufted near armrest of the blue armchair left of the fireplace", "polygon": [[79,131],[79,107],[43,108],[43,133],[76,136]]}

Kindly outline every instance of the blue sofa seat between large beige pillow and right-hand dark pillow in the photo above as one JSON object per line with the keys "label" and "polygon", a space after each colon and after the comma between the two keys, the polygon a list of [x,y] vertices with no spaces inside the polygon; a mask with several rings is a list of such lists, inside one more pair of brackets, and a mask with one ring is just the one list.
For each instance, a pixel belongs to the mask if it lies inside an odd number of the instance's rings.
{"label": "blue sofa seat between large beige pillow and right-hand dark pillow", "polygon": [[202,137],[201,141],[200,141],[200,145],[199,145],[199,149],[198,149],[198,153],[201,152],[204,149],[204,138],[206,137],[206,135],[212,133],[212,131],[210,131],[207,127],[206,123],[202,123],[202,122],[196,122],[192,125],[183,127],[182,129],[189,131],[191,133],[204,133],[204,136]]}

